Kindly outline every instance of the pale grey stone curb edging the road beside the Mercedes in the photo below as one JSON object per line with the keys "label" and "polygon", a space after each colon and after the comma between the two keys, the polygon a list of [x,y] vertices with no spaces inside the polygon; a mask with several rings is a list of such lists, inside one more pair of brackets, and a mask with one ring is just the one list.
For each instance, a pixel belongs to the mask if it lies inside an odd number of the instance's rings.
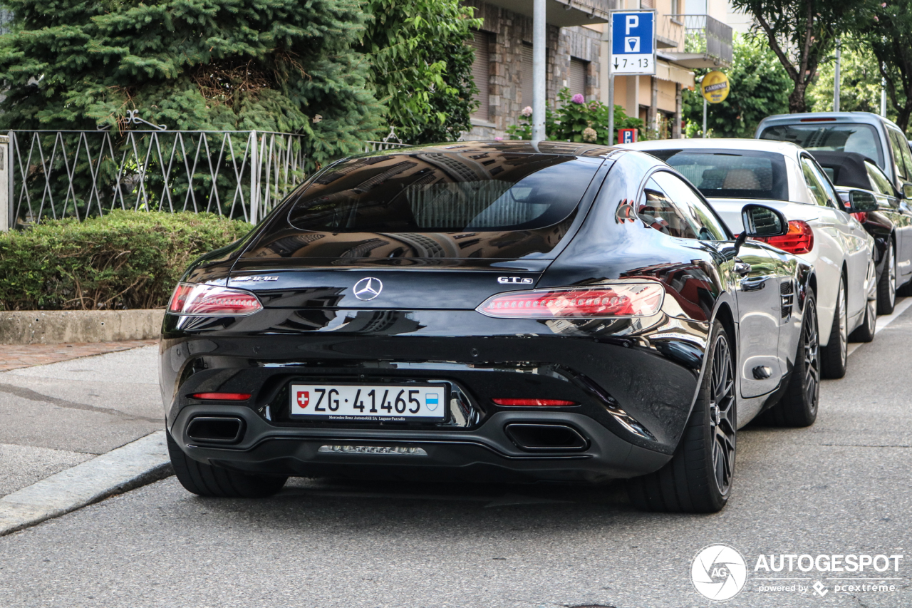
{"label": "pale grey stone curb edging the road beside the Mercedes", "polygon": [[0,536],[172,473],[165,432],[156,431],[0,498]]}

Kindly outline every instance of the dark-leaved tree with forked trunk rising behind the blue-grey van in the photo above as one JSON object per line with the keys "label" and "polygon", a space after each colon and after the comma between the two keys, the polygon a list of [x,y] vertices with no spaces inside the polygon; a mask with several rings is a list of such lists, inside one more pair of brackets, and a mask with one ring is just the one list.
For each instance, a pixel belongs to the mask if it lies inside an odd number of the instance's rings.
{"label": "dark-leaved tree with forked trunk rising behind the blue-grey van", "polygon": [[[852,31],[857,11],[871,0],[731,0],[731,5],[756,22],[754,37],[779,58],[792,80],[789,111],[807,109],[805,92],[828,60],[835,38]],[[759,40],[758,40],[759,42]]]}

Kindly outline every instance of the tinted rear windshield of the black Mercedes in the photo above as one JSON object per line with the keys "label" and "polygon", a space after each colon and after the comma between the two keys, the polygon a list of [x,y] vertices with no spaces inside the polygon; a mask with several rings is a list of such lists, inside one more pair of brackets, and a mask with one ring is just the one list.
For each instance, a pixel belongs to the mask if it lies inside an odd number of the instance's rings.
{"label": "tinted rear windshield of the black Mercedes", "polygon": [[353,159],[297,194],[288,221],[332,233],[535,230],[574,212],[601,162],[509,152]]}

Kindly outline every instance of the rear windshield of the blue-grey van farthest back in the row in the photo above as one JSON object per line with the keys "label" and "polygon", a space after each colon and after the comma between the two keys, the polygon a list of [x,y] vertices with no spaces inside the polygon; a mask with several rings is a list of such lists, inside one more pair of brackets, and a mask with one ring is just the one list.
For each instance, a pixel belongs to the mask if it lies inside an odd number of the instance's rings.
{"label": "rear windshield of the blue-grey van farthest back in the row", "polygon": [[807,122],[767,127],[760,134],[762,140],[793,142],[809,151],[858,152],[884,166],[880,138],[869,124],[855,122]]}

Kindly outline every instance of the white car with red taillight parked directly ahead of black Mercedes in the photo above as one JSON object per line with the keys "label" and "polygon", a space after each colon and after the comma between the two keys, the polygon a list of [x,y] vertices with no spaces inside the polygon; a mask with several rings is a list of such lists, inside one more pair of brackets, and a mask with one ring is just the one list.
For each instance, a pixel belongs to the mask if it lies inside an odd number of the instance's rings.
{"label": "white car with red taillight parked directly ahead of black Mercedes", "polygon": [[750,202],[762,201],[788,218],[789,234],[767,242],[814,265],[820,281],[820,324],[825,328],[824,377],[843,377],[849,334],[854,340],[874,339],[874,239],[845,213],[814,157],[793,143],[746,139],[665,140],[622,147],[668,162],[700,189],[734,232],[744,229],[741,207]]}

